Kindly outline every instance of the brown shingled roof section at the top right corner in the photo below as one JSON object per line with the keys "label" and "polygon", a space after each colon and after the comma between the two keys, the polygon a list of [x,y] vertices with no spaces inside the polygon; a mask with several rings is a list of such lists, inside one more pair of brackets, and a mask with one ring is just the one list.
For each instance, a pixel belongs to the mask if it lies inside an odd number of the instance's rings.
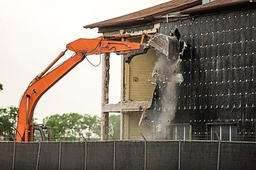
{"label": "brown shingled roof section at the top right corner", "polygon": [[186,9],[182,11],[183,14],[190,14],[190,13],[197,13],[197,12],[204,12],[207,10],[219,9],[223,7],[230,7],[234,5],[241,5],[246,4],[254,1],[249,0],[215,0],[210,3],[206,3],[203,5],[199,5],[193,8]]}

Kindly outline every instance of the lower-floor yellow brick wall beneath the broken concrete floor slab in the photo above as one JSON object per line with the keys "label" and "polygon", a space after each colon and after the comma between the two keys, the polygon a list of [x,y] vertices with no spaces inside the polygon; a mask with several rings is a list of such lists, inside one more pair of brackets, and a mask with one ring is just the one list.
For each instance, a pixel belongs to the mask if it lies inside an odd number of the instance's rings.
{"label": "lower-floor yellow brick wall beneath the broken concrete floor slab", "polygon": [[[143,140],[140,133],[143,134],[143,136],[147,140],[153,139],[153,127],[147,126],[147,125],[140,125],[139,120],[142,112],[129,112],[126,114],[129,114],[129,139],[131,140]],[[127,136],[125,136],[127,137]],[[125,138],[127,139],[127,138]]]}

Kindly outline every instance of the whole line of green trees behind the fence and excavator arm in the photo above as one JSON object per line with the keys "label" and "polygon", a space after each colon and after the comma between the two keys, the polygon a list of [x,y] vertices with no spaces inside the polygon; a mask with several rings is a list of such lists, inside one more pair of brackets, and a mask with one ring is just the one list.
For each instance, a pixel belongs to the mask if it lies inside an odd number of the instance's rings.
{"label": "whole line of green trees behind the fence and excavator arm", "polygon": [[[0,136],[4,135],[5,125],[10,124],[16,128],[18,108],[7,107],[0,108]],[[37,124],[37,119],[34,119],[34,125]],[[55,114],[44,118],[44,124],[53,128],[55,140],[87,140],[99,139],[101,119],[100,117],[89,114]],[[120,138],[120,115],[110,115],[110,134],[116,140]],[[11,126],[6,126],[8,135],[15,135],[16,131]],[[111,138],[110,138],[111,139]]]}

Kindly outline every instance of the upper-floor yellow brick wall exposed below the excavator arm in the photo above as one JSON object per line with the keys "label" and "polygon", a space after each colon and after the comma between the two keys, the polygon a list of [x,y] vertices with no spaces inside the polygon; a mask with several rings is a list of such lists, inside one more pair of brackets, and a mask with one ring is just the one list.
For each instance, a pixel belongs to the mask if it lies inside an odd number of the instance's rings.
{"label": "upper-floor yellow brick wall exposed below the excavator arm", "polygon": [[[133,38],[130,41],[136,42],[140,38]],[[148,79],[156,63],[156,52],[148,50],[146,54],[135,56],[130,63],[125,64],[125,100],[148,101],[152,100],[155,86],[152,86]],[[134,82],[134,78],[138,82]]]}

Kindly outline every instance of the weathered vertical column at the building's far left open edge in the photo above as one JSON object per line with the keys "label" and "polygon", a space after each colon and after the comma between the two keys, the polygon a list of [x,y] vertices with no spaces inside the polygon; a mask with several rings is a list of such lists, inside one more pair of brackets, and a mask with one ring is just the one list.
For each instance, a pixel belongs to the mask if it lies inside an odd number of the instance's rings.
{"label": "weathered vertical column at the building's far left open edge", "polygon": [[[102,57],[102,107],[109,103],[110,53]],[[109,112],[101,112],[101,140],[109,139]]]}

